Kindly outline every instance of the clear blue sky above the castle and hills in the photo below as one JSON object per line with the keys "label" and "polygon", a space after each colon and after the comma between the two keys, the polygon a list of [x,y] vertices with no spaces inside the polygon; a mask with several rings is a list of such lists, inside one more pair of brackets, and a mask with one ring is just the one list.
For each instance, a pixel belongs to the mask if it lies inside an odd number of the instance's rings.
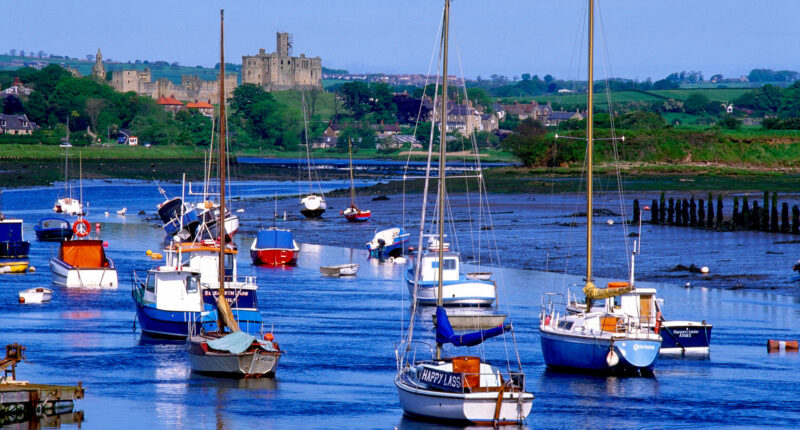
{"label": "clear blue sky above the castle and hills", "polygon": [[[454,74],[584,76],[584,0],[455,0]],[[211,66],[219,58],[225,9],[226,59],[275,49],[275,32],[293,34],[296,54],[351,72],[425,73],[436,37],[438,0],[109,0],[5,5],[0,51],[83,58],[98,47],[114,60],[167,60]],[[700,70],[708,78],[756,67],[800,69],[800,1],[602,0],[608,55],[596,76],[654,80]],[[13,17],[13,19],[9,19]],[[599,48],[598,48],[599,51]],[[461,66],[456,58],[458,53]],[[579,58],[581,59],[579,62]],[[606,60],[607,58],[607,60]],[[608,63],[610,67],[603,68]],[[609,70],[606,72],[605,70]]]}

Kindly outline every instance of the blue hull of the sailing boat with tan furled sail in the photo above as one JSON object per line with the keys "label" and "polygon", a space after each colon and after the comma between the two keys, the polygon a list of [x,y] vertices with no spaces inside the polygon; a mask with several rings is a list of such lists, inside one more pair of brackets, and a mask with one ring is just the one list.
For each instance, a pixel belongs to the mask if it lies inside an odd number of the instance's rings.
{"label": "blue hull of the sailing boat with tan furled sail", "polygon": [[619,363],[609,366],[608,337],[573,336],[539,330],[542,355],[548,367],[597,373],[651,373],[661,346],[655,339],[614,339]]}

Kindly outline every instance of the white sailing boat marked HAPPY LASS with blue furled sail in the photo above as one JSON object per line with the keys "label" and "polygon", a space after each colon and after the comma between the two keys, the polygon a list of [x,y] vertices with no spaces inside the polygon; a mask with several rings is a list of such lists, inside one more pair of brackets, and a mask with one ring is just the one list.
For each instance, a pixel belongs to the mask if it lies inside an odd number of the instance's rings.
{"label": "white sailing boat marked HAPPY LASS with blue furled sail", "polygon": [[[450,1],[445,0],[442,27],[442,94],[446,112],[447,105],[447,45]],[[444,216],[445,197],[445,152],[444,136],[447,130],[447,117],[442,115],[442,143],[439,145],[439,219]],[[431,141],[431,145],[433,142]],[[430,158],[427,175],[430,176]],[[426,187],[427,189],[427,187]],[[424,213],[424,211],[423,211]],[[444,237],[444,224],[439,223],[439,237]],[[485,362],[480,357],[461,355],[445,358],[442,347],[446,343],[453,346],[475,346],[491,337],[500,336],[512,330],[510,324],[486,328],[467,334],[455,334],[443,307],[443,266],[444,247],[437,250],[438,296],[436,307],[436,349],[431,360],[416,361],[412,345],[414,317],[410,320],[408,336],[396,351],[397,375],[394,383],[403,411],[410,416],[431,420],[468,422],[496,425],[501,423],[521,423],[531,410],[533,395],[525,392],[525,376],[521,371],[508,372],[503,376],[500,368]],[[412,305],[412,315],[416,315],[416,302]],[[519,364],[519,360],[518,360]]]}

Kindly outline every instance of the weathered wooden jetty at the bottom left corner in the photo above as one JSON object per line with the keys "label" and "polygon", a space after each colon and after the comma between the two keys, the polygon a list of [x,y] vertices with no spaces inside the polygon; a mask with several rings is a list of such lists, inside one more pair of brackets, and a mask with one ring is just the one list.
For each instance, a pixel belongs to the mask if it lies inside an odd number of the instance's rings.
{"label": "weathered wooden jetty at the bottom left corner", "polygon": [[[16,367],[25,360],[25,347],[6,345],[0,360],[0,425],[71,413],[75,400],[82,399],[84,388],[77,386],[31,384],[16,379]],[[81,414],[82,415],[82,414]]]}

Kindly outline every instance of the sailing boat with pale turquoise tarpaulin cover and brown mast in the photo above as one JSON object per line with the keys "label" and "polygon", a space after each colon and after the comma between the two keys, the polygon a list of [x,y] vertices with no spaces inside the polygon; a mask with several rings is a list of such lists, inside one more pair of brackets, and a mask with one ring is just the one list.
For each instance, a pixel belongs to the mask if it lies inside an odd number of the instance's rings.
{"label": "sailing boat with pale turquoise tarpaulin cover and brown mast", "polygon": [[[223,44],[224,11],[220,10],[220,79],[219,79],[219,192],[225,202],[225,55]],[[220,204],[220,219],[225,219],[225,204]],[[192,371],[232,377],[261,377],[275,373],[282,351],[272,342],[272,333],[260,340],[239,328],[225,294],[225,223],[219,223],[219,292],[216,312],[208,312],[201,321],[200,333],[191,333],[186,342]],[[214,321],[216,320],[216,321]]]}

